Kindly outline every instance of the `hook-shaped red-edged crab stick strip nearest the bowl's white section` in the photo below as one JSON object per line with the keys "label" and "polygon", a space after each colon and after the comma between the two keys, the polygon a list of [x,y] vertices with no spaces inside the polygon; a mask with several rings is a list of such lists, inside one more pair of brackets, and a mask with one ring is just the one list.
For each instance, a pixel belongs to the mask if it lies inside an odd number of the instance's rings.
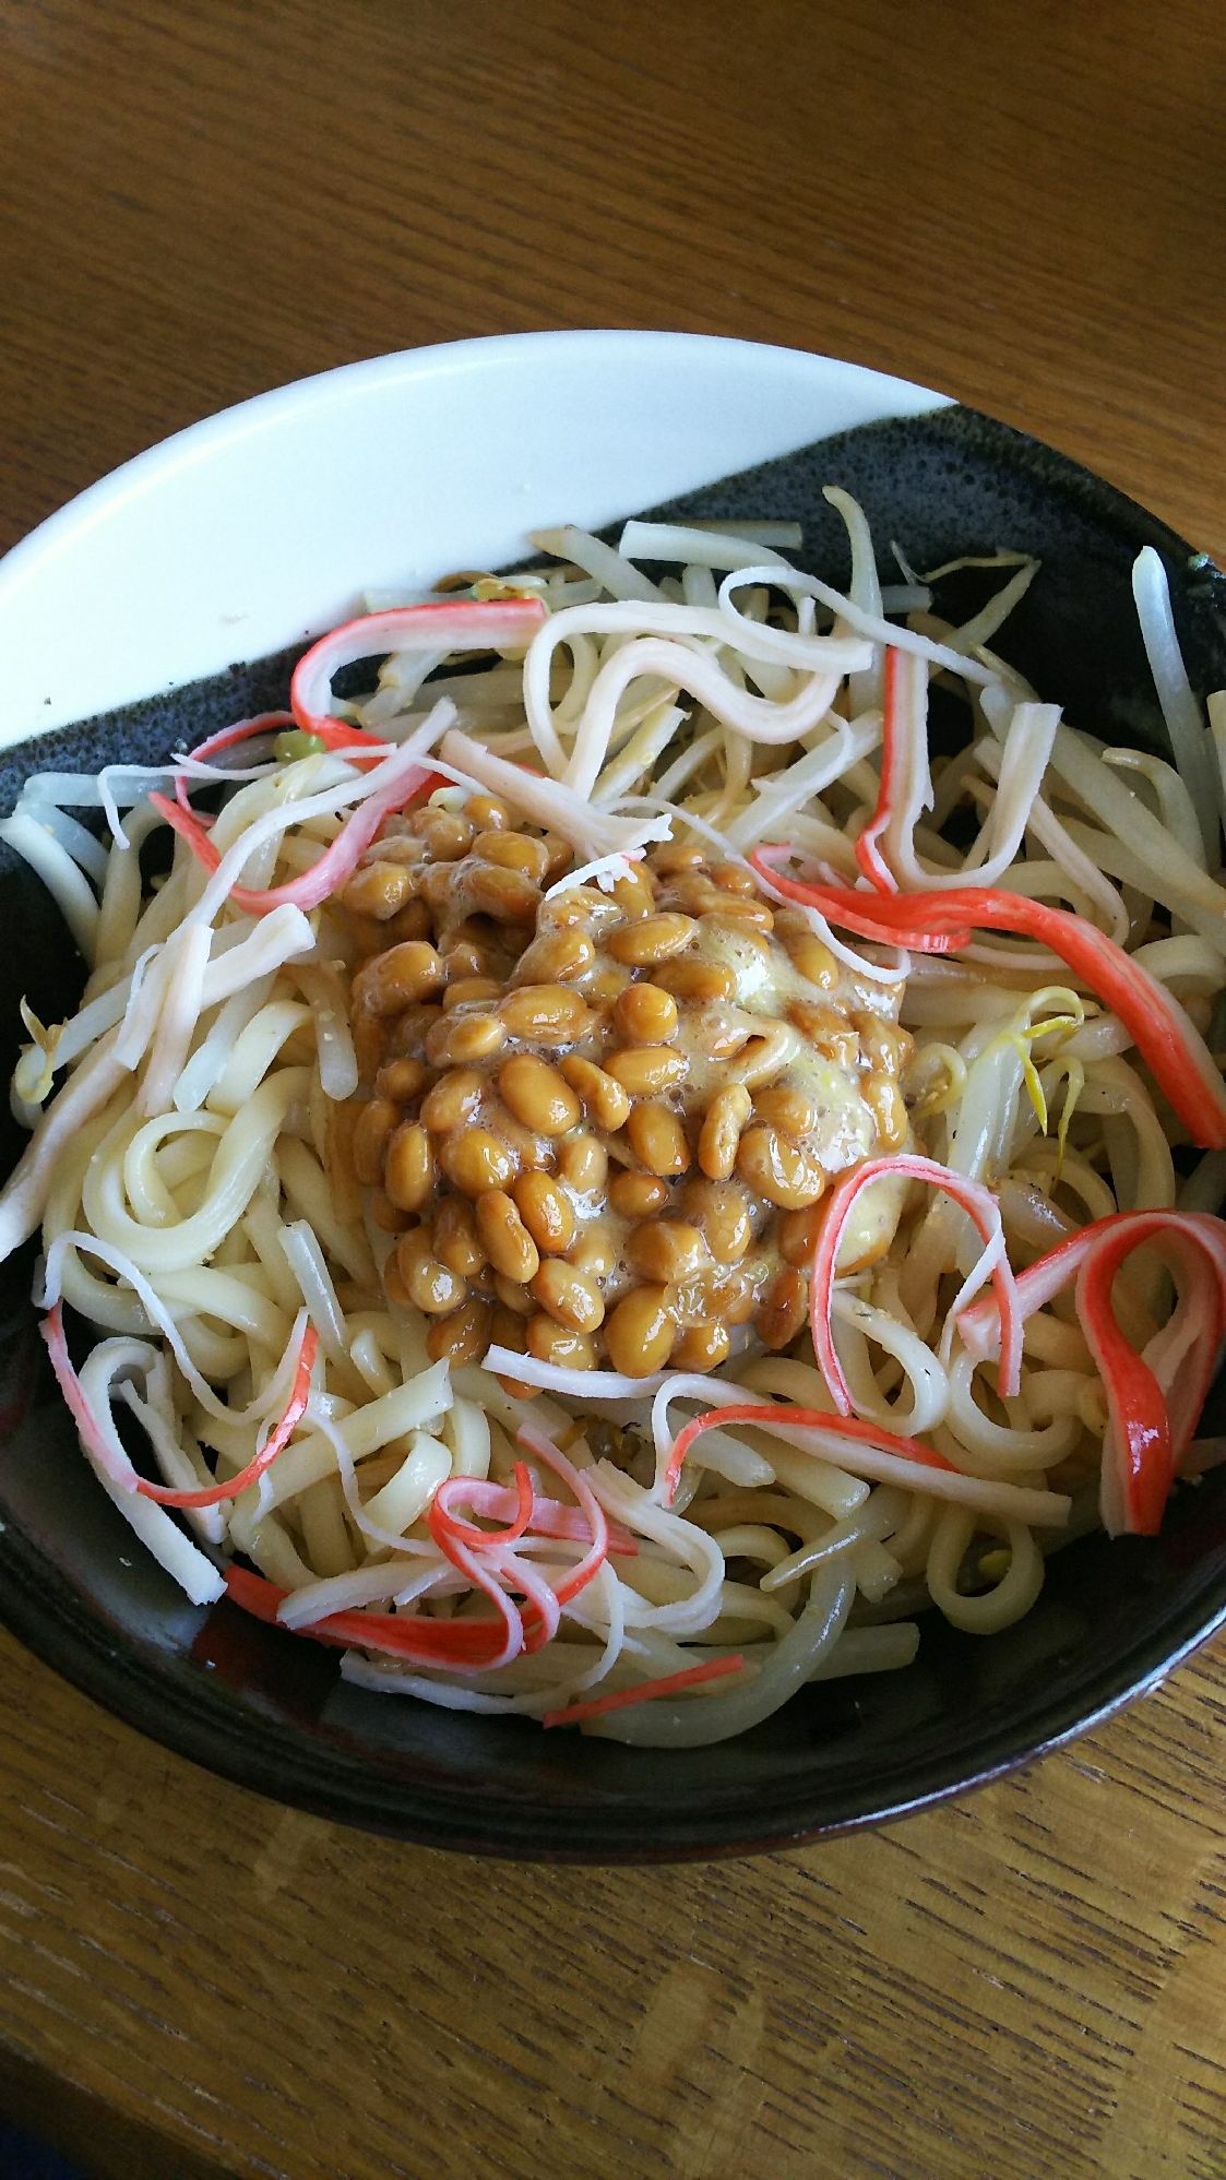
{"label": "hook-shaped red-edged crab stick strip nearest the bowl's white section", "polygon": [[[303,735],[318,735],[329,748],[353,748],[362,728],[334,719],[332,676],[358,658],[380,652],[486,652],[528,647],[545,621],[539,597],[515,600],[441,600],[436,606],[395,606],[388,613],[364,613],[356,621],[332,628],[305,652],[290,682],[290,711]],[[340,730],[340,735],[338,735]]]}

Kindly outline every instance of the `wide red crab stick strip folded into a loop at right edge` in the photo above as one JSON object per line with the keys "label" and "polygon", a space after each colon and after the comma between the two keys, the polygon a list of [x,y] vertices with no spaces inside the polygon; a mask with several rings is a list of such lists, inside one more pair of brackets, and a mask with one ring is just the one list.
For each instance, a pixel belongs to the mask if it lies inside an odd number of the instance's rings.
{"label": "wide red crab stick strip folded into a loop at right edge", "polygon": [[[1123,1339],[1110,1291],[1117,1271],[1143,1245],[1174,1262],[1176,1315],[1143,1354]],[[1171,1478],[1191,1445],[1226,1332],[1226,1227],[1204,1212],[1113,1212],[1041,1256],[1019,1275],[1019,1308],[1032,1317],[1075,1280],[1082,1332],[1108,1408],[1102,1511],[1110,1535],[1154,1537]],[[999,1345],[995,1297],[960,1312],[971,1356]]]}

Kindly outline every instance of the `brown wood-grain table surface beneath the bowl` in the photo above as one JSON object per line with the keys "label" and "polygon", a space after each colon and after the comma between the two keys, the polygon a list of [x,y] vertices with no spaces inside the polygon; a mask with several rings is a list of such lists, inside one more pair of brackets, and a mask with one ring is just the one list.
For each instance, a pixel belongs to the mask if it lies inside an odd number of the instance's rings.
{"label": "brown wood-grain table surface beneath the bowl", "polygon": [[[358,355],[665,325],[1041,434],[1226,558],[1195,0],[4,0],[0,543]],[[486,1866],[0,1639],[0,2102],[124,2180],[1226,2176],[1226,1646],[897,1829]]]}

